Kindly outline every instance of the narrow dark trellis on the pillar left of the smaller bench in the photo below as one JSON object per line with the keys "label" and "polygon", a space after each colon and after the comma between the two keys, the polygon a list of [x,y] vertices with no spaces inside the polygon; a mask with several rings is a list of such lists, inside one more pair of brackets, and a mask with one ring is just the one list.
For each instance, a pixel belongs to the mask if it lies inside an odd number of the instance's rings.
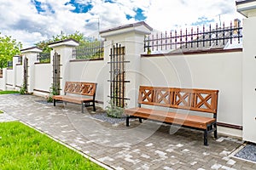
{"label": "narrow dark trellis on the pillar left of the smaller bench", "polygon": [[61,90],[61,55],[55,52],[53,56],[53,84],[54,94],[60,94]]}

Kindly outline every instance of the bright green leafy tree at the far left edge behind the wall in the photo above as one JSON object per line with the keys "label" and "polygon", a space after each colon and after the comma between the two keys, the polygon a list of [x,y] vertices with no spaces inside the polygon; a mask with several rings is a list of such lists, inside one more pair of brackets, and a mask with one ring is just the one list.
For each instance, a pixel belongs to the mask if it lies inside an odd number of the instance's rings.
{"label": "bright green leafy tree at the far left edge behind the wall", "polygon": [[13,57],[20,54],[21,42],[9,36],[1,36],[0,32],[0,68],[7,67],[7,61],[11,61]]}

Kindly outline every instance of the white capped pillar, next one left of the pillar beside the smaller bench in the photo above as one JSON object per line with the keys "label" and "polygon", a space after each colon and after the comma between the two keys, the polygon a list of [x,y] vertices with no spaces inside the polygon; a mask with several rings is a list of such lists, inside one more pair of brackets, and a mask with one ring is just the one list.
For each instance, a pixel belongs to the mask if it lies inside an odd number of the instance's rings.
{"label": "white capped pillar, next one left of the pillar beside the smaller bench", "polygon": [[[26,48],[26,49],[21,49],[21,54],[23,55],[23,61],[22,63],[24,63],[24,59],[25,57],[28,59],[28,63],[27,63],[27,92],[28,93],[33,93],[33,90],[34,90],[34,82],[35,82],[35,77],[34,77],[34,74],[35,74],[35,63],[38,61],[37,57],[38,57],[38,54],[40,52],[42,52],[42,49],[41,48],[38,48],[38,47],[32,47],[32,48]],[[24,70],[22,70],[23,73],[22,76],[23,77],[23,74],[24,74]],[[23,80],[24,82],[24,80]],[[22,84],[23,84],[22,82]]]}

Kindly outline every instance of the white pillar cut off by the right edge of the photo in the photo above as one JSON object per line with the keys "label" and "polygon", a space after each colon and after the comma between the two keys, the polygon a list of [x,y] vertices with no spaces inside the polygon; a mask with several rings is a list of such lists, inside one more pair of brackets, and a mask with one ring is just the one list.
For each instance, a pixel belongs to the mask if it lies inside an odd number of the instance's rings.
{"label": "white pillar cut off by the right edge of the photo", "polygon": [[255,1],[236,2],[243,20],[242,37],[242,138],[256,143],[256,6]]}

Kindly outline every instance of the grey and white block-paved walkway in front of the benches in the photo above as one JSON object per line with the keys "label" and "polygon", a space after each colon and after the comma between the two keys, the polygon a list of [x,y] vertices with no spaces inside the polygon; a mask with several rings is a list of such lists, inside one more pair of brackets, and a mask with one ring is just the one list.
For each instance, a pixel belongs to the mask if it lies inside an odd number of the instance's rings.
{"label": "grey and white block-paved walkway in front of the benches", "polygon": [[91,115],[102,113],[101,108],[96,112],[88,108],[82,114],[79,105],[54,107],[38,100],[42,98],[0,96],[0,110],[6,112],[0,114],[0,122],[26,122],[115,169],[256,169],[253,163],[229,157],[241,139],[219,134],[215,140],[211,135],[209,146],[204,146],[201,131],[182,127],[170,134],[174,127],[146,121],[113,126],[92,119]]}

